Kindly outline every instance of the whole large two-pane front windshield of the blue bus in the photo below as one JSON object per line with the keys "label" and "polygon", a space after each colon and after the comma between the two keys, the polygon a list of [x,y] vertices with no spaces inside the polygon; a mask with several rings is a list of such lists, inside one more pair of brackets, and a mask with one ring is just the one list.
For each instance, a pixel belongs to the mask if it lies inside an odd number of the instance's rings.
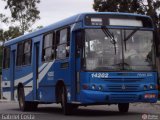
{"label": "whole large two-pane front windshield of the blue bus", "polygon": [[153,70],[153,31],[85,29],[84,68]]}

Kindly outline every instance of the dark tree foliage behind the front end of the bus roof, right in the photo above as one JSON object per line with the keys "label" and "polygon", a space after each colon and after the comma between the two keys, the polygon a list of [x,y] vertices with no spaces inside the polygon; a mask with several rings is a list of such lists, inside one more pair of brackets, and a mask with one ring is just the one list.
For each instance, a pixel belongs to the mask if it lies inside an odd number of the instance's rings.
{"label": "dark tree foliage behind the front end of the bus roof, right", "polygon": [[160,0],[94,0],[93,9],[98,12],[128,12],[149,15],[158,26]]}

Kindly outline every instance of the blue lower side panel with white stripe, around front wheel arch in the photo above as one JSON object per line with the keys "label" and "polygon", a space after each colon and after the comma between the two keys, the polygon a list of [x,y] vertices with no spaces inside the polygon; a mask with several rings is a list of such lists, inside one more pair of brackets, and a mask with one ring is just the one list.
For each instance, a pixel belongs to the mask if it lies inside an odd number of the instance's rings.
{"label": "blue lower side panel with white stripe, around front wheel arch", "polygon": [[[55,87],[59,80],[64,82],[70,95],[71,73],[69,67],[61,68],[61,63],[63,62],[60,60],[49,62],[39,73],[38,97],[41,102],[56,102]],[[70,99],[68,98],[68,100]]]}

